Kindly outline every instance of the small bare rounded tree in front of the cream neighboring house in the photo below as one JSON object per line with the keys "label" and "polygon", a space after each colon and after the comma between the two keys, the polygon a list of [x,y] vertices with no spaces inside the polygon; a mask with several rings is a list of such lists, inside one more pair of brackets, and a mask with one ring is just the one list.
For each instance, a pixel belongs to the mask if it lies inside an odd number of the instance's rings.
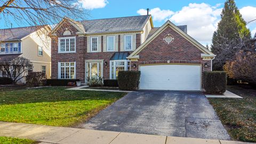
{"label": "small bare rounded tree in front of the cream neighboring house", "polygon": [[14,84],[16,84],[21,78],[26,77],[28,70],[33,69],[33,64],[30,60],[17,57],[11,61],[0,62],[0,71],[6,73],[7,77],[10,77]]}

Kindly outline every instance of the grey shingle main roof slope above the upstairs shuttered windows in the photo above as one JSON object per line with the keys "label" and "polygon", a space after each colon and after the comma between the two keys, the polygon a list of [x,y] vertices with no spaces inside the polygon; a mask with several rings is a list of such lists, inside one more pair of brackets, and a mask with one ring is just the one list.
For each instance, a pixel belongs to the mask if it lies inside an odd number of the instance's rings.
{"label": "grey shingle main roof slope above the upstairs shuttered windows", "polygon": [[85,33],[110,33],[117,31],[142,30],[150,15],[81,21]]}

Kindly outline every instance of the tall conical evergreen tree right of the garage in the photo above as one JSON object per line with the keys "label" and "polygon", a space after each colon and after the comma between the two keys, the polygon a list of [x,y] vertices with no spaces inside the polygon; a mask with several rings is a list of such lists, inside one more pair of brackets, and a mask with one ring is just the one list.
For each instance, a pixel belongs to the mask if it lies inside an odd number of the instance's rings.
{"label": "tall conical evergreen tree right of the garage", "polygon": [[227,0],[221,13],[217,31],[214,31],[211,51],[216,54],[213,60],[213,70],[223,70],[227,60],[232,60],[235,54],[243,49],[242,41],[251,38],[250,30],[246,28],[246,22],[242,18],[234,0]]}

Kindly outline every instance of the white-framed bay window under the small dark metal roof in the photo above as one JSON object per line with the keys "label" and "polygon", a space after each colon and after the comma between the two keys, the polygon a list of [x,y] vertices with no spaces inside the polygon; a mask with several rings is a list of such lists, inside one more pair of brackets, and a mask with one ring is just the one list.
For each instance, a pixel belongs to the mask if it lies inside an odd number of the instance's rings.
{"label": "white-framed bay window under the small dark metal roof", "polygon": [[131,62],[129,60],[110,61],[110,79],[116,79],[118,72],[123,70],[131,70]]}

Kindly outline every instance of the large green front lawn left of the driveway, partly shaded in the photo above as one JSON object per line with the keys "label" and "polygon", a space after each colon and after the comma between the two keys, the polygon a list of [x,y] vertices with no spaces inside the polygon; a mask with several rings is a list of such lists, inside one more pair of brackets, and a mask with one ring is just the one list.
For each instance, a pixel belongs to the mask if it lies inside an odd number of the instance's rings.
{"label": "large green front lawn left of the driveway, partly shaded", "polygon": [[76,126],[126,94],[65,89],[0,89],[0,121]]}

